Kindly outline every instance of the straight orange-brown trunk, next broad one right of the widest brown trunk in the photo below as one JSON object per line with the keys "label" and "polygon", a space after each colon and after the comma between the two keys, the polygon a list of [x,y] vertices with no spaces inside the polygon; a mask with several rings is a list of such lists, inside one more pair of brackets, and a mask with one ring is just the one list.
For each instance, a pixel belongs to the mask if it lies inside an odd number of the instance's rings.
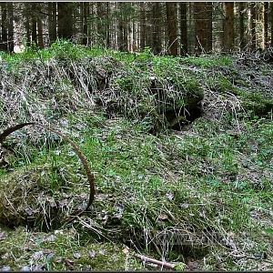
{"label": "straight orange-brown trunk, next broad one right of the widest brown trunk", "polygon": [[234,49],[234,2],[223,2],[224,9],[224,50]]}

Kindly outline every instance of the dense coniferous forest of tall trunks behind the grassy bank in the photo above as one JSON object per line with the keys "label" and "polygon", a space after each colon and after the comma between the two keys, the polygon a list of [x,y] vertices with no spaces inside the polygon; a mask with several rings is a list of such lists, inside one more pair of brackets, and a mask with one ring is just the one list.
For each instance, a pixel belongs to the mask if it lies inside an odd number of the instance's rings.
{"label": "dense coniferous forest of tall trunks behind the grassy bank", "polygon": [[56,39],[116,51],[198,55],[273,45],[270,2],[1,2],[0,49]]}

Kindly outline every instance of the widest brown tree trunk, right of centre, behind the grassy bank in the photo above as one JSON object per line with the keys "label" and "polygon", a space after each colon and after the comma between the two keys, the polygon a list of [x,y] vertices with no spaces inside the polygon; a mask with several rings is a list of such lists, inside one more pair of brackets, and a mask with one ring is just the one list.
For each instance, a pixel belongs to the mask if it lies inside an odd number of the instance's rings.
{"label": "widest brown tree trunk, right of centre, behind the grassy bank", "polygon": [[212,49],[212,4],[211,2],[194,3],[196,21],[196,48],[197,54]]}

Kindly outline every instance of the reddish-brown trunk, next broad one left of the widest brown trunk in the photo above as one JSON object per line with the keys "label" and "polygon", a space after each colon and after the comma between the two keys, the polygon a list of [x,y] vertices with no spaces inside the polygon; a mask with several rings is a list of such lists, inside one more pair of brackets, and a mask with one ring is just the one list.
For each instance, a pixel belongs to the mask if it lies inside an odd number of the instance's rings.
{"label": "reddish-brown trunk, next broad one left of the widest brown trunk", "polygon": [[166,8],[169,51],[172,56],[177,56],[177,3],[166,2]]}

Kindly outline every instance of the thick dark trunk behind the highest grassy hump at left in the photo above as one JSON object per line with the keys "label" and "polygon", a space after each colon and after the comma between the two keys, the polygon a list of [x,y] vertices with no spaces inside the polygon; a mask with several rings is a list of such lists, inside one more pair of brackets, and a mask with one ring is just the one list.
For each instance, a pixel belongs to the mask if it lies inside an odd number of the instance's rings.
{"label": "thick dark trunk behind the highest grassy hump at left", "polygon": [[73,36],[73,3],[57,2],[58,37],[71,40]]}

